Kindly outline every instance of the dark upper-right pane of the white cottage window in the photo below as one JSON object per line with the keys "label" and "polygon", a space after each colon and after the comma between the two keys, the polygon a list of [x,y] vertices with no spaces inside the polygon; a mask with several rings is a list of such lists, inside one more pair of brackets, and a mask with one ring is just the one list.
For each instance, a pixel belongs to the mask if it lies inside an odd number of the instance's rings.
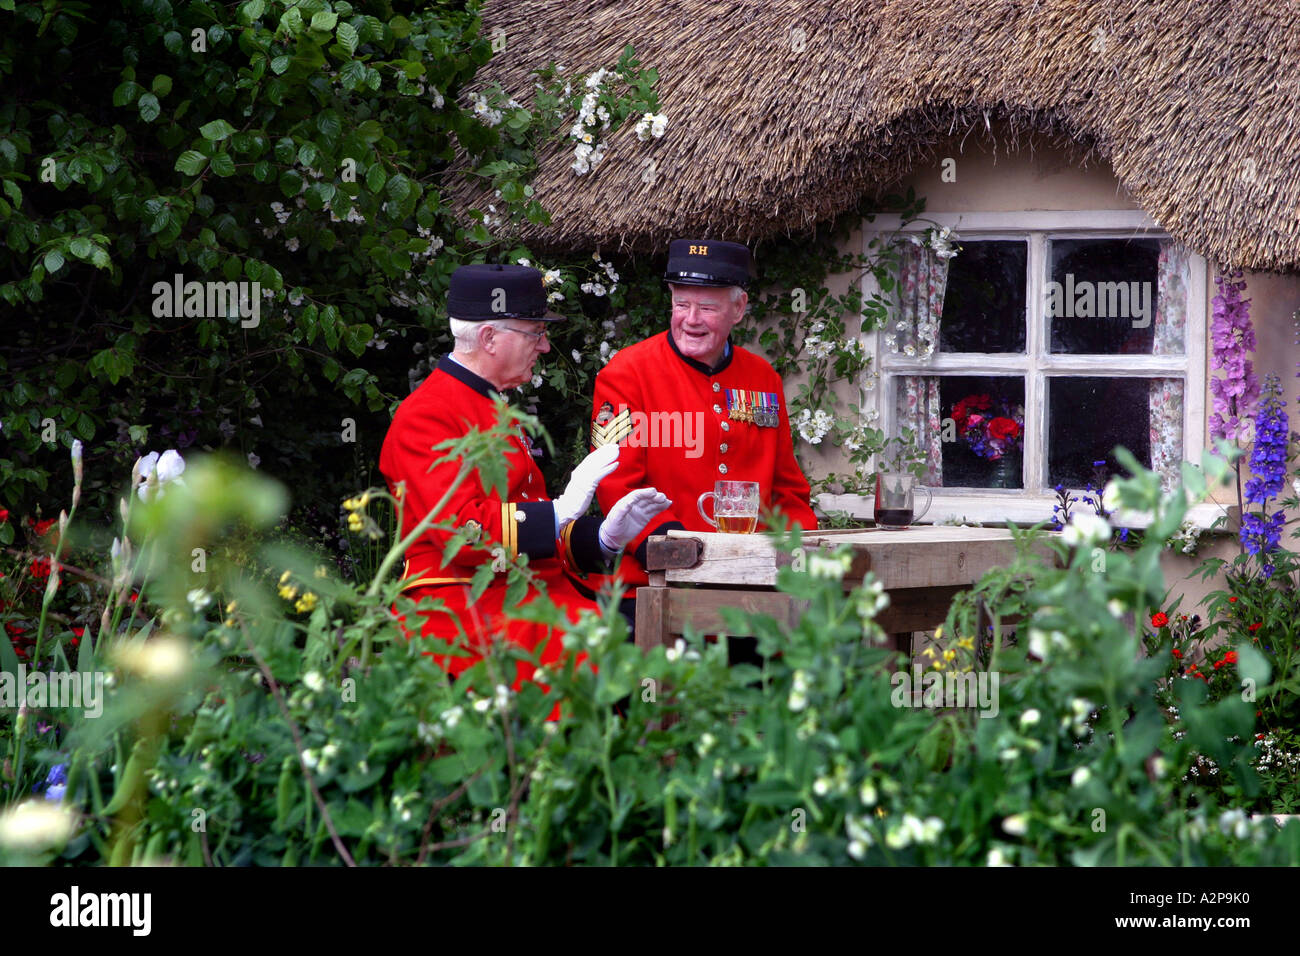
{"label": "dark upper-right pane of the white cottage window", "polygon": [[1158,239],[1054,239],[1049,261],[1053,352],[1153,354]]}

